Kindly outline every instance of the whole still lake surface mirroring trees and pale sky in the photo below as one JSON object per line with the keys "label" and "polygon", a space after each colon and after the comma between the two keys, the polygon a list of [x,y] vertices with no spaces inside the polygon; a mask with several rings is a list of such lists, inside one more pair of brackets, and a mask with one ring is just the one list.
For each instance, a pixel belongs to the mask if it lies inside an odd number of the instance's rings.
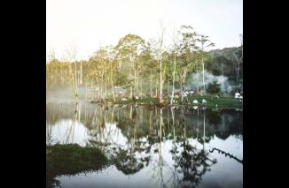
{"label": "whole still lake surface mirroring trees and pale sky", "polygon": [[[120,184],[112,187],[135,187],[140,181],[143,187],[243,184],[242,163],[234,160],[243,158],[241,111],[85,103],[48,103],[46,111],[47,145],[96,145],[109,154],[113,169],[94,174],[112,175],[106,177],[106,187],[113,178]],[[88,177],[79,176],[85,187]],[[74,180],[59,180],[63,187],[74,186]]]}

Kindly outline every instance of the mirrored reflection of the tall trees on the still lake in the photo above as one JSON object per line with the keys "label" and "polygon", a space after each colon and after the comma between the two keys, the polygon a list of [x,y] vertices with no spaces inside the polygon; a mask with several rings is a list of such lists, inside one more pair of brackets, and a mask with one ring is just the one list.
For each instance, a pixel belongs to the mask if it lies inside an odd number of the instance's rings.
{"label": "mirrored reflection of the tall trees on the still lake", "polygon": [[[206,143],[215,136],[242,136],[242,122],[234,117],[241,116],[230,112],[89,104],[76,105],[74,113],[57,105],[47,108],[47,139],[59,118],[81,122],[90,135],[88,144],[105,149],[116,169],[133,175],[150,168],[160,187],[196,187],[216,162]],[[71,126],[67,139],[73,142],[74,134]],[[166,161],[168,146],[172,162]]]}

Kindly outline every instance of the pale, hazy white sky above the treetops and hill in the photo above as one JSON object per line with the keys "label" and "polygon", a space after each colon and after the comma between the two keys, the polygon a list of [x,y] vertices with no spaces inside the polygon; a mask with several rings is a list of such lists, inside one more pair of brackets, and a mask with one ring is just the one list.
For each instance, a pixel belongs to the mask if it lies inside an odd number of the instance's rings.
{"label": "pale, hazy white sky above the treetops and hill", "polygon": [[77,49],[87,59],[100,45],[115,45],[126,34],[148,40],[160,34],[165,41],[175,26],[193,26],[215,42],[215,49],[239,46],[243,34],[242,0],[46,0],[46,50],[61,58]]}

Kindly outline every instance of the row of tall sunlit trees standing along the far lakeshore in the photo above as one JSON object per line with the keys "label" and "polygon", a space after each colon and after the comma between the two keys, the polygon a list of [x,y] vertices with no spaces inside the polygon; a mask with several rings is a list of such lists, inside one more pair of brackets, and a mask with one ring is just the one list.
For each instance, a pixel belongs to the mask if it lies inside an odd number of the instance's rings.
{"label": "row of tall sunlit trees standing along the far lakeshore", "polygon": [[[98,99],[111,98],[115,102],[121,87],[124,95],[134,97],[165,96],[180,90],[182,100],[189,76],[193,72],[213,72],[227,76],[236,84],[242,80],[242,49],[207,52],[214,43],[198,34],[191,26],[181,26],[172,36],[171,45],[164,46],[164,29],[160,37],[144,41],[140,36],[127,34],[115,46],[98,49],[89,60],[75,61],[76,52],[66,51],[66,60],[58,60],[51,54],[46,65],[47,89],[51,86],[69,85],[78,97],[79,86],[95,86]],[[224,50],[224,49],[223,49]],[[190,88],[197,94],[206,94],[204,75],[199,78],[201,86]],[[172,102],[172,100],[171,100]]]}

